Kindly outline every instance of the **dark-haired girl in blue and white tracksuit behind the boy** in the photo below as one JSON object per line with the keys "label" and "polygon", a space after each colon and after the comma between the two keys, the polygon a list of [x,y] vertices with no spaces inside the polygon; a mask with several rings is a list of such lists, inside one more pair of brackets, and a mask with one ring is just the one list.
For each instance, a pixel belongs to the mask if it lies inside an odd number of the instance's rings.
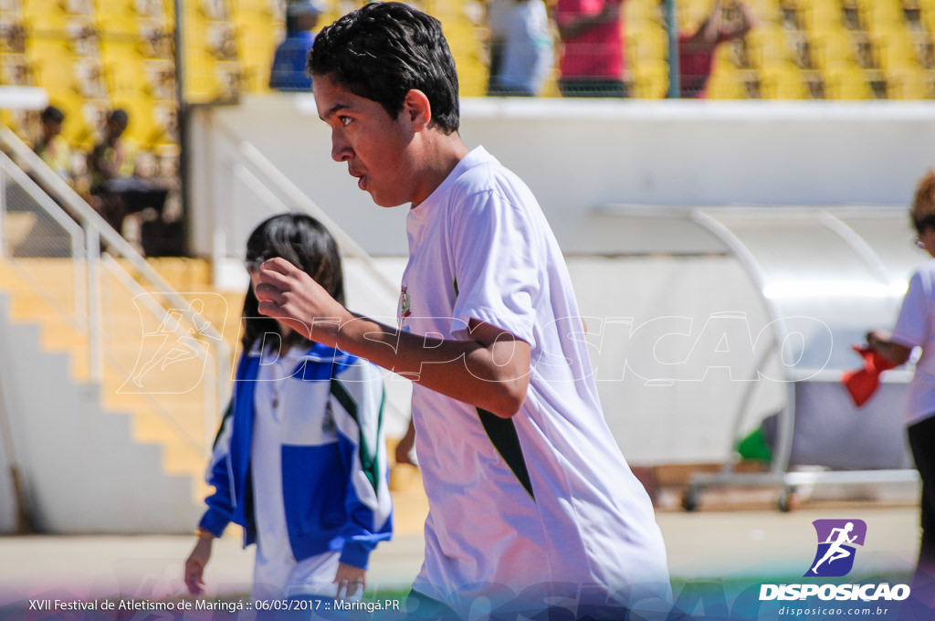
{"label": "dark-haired girl in blue and white tracksuit behind the boy", "polygon": [[203,591],[211,544],[234,522],[245,546],[257,544],[253,599],[359,598],[367,557],[392,531],[381,370],[258,312],[257,272],[274,256],[343,299],[338,247],[322,224],[285,213],[252,232],[243,349],[185,583]]}

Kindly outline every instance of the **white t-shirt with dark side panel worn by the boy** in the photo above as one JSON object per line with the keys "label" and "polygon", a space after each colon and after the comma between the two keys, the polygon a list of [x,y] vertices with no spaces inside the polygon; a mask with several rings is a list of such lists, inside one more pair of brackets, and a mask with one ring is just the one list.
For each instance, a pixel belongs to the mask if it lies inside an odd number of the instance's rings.
{"label": "white t-shirt with dark side panel worn by the boy", "polygon": [[530,190],[479,147],[407,229],[403,330],[469,339],[473,318],[532,348],[509,420],[414,387],[429,514],[413,588],[456,609],[557,583],[668,590],[652,503],[604,420],[568,269]]}

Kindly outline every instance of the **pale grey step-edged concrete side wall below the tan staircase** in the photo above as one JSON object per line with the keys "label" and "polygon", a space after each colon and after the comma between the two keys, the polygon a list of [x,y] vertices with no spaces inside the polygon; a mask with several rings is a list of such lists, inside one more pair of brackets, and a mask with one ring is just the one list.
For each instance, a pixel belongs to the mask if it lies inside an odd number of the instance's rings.
{"label": "pale grey step-edged concrete side wall below the tan staircase", "polygon": [[[131,439],[130,417],[101,412],[95,384],[73,382],[65,354],[39,347],[35,325],[11,324],[0,296],[0,390],[25,498],[41,532],[183,533],[199,508],[187,477],[165,475],[159,449]],[[12,455],[0,455],[8,466]],[[0,479],[7,477],[4,469]],[[15,526],[0,484],[0,532]]]}

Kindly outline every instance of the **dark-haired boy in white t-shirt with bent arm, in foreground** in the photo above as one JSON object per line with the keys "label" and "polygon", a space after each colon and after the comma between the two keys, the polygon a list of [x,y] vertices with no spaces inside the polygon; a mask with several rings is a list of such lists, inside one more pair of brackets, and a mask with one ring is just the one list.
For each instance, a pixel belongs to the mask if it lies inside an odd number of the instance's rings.
{"label": "dark-haired boy in white t-shirt with bent arm, in foreground", "polygon": [[399,327],[279,259],[256,295],[260,312],[414,383],[429,500],[414,613],[465,616],[484,598],[624,618],[644,593],[667,597],[662,535],[604,421],[562,253],[523,181],[458,135],[439,22],[367,5],[322,31],[309,71],[332,157],[378,205],[411,204]]}

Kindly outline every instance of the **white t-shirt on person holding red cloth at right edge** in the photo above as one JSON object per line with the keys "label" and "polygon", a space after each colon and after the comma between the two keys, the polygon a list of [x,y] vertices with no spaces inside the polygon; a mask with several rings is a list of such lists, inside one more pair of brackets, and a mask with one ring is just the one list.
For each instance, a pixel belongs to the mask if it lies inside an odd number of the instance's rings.
{"label": "white t-shirt on person holding red cloth at right edge", "polygon": [[913,274],[902,299],[899,318],[892,339],[907,347],[921,347],[915,375],[909,386],[906,424],[913,425],[935,414],[935,260],[928,261]]}

